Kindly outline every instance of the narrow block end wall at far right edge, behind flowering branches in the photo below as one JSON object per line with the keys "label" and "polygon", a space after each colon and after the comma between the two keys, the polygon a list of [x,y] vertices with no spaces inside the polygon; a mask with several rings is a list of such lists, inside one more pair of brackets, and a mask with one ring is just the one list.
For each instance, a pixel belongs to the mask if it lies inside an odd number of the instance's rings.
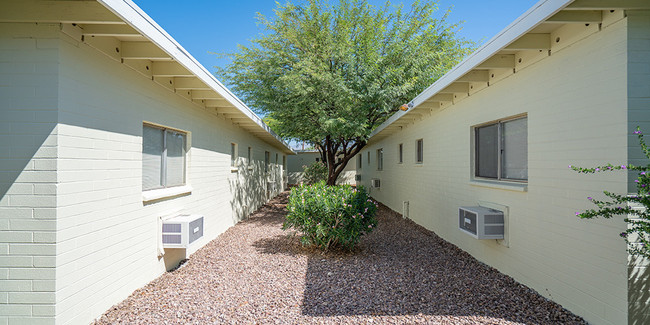
{"label": "narrow block end wall at far right edge, behind flowering branches", "polygon": [[[647,165],[648,160],[633,133],[638,126],[645,134],[650,134],[650,11],[628,11],[627,17],[629,163]],[[636,191],[636,177],[636,173],[630,173],[631,193]],[[649,266],[647,259],[629,258],[629,324],[650,323]]]}

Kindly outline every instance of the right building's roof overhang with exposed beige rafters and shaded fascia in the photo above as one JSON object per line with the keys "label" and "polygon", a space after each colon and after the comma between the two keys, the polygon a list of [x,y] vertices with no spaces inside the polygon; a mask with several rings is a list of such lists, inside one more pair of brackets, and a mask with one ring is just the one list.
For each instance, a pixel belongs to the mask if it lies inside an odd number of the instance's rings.
{"label": "right building's roof overhang with exposed beige rafters and shaded fascia", "polygon": [[[371,134],[369,143],[399,132],[424,115],[470,96],[475,85],[489,87],[494,71],[517,70],[522,53],[550,55],[553,31],[567,25],[598,26],[614,11],[647,10],[648,0],[542,0],[417,95]],[[592,28],[594,28],[592,26]],[[586,28],[586,27],[585,27]],[[598,27],[599,28],[599,27]]]}

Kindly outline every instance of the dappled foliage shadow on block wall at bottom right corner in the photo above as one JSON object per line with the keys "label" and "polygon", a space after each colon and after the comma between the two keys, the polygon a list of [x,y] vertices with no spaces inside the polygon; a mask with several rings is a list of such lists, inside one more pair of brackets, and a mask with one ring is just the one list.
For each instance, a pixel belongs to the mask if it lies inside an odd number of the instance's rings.
{"label": "dappled foliage shadow on block wall at bottom right corner", "polygon": [[650,260],[629,257],[628,324],[650,324]]}

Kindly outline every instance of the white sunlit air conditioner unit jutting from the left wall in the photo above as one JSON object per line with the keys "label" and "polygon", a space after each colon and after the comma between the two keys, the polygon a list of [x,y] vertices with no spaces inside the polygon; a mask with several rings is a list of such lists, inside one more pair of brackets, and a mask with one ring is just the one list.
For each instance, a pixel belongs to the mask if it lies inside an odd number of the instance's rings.
{"label": "white sunlit air conditioner unit jutting from the left wall", "polygon": [[203,216],[184,214],[163,220],[163,247],[187,248],[203,237]]}

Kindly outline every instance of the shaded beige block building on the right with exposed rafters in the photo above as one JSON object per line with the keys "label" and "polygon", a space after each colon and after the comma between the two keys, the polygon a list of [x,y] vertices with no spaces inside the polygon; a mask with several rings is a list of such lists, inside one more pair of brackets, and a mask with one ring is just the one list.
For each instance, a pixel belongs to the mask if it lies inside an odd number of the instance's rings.
{"label": "shaded beige block building on the right with exposed rafters", "polygon": [[[374,131],[359,183],[589,323],[649,324],[649,263],[628,256],[623,217],[575,216],[636,175],[568,168],[648,164],[633,132],[650,133],[649,9],[540,1]],[[467,206],[501,211],[504,238],[462,231]]]}

